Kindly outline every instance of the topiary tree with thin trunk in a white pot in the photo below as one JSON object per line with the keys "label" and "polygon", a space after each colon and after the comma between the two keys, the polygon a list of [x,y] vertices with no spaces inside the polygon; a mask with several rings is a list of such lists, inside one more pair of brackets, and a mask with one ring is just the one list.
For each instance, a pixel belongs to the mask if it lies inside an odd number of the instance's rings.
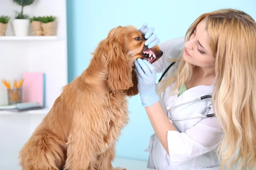
{"label": "topiary tree with thin trunk in a white pot", "polygon": [[34,0],[13,0],[21,6],[21,12],[16,11],[15,19],[12,21],[14,34],[16,36],[28,36],[29,34],[29,15],[23,14],[24,6],[31,5]]}

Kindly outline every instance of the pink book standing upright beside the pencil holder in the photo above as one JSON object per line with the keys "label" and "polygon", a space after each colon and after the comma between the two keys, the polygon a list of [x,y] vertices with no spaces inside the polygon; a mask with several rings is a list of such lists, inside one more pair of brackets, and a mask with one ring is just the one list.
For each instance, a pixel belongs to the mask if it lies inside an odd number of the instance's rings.
{"label": "pink book standing upright beside the pencil holder", "polygon": [[44,107],[45,74],[40,72],[23,73],[22,102],[38,102]]}

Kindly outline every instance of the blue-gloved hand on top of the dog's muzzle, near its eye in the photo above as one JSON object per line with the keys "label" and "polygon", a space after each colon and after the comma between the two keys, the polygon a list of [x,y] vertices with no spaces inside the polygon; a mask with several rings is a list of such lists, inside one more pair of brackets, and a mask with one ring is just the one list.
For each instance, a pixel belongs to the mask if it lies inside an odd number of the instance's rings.
{"label": "blue-gloved hand on top of the dog's muzzle, near its eye", "polygon": [[148,45],[148,48],[156,46],[160,40],[157,38],[157,34],[154,34],[154,27],[148,28],[148,23],[143,23],[143,26],[140,27],[139,31],[145,35],[145,45]]}

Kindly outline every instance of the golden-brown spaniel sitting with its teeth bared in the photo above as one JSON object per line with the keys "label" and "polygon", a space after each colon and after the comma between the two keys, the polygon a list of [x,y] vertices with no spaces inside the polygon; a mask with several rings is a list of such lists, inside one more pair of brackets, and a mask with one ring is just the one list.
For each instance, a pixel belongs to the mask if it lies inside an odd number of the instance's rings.
{"label": "golden-brown spaniel sitting with its teeth bared", "polygon": [[[126,96],[138,94],[134,60],[163,54],[145,47],[133,26],[113,28],[88,68],[65,85],[53,107],[20,150],[23,170],[124,170],[113,168],[115,143],[128,124]],[[152,57],[151,57],[152,56]]]}

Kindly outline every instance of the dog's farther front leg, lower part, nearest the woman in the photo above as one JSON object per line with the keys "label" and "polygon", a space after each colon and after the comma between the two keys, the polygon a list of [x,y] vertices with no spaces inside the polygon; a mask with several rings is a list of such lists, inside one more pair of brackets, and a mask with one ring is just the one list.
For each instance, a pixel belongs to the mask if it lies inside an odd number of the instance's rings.
{"label": "dog's farther front leg, lower part, nearest the woman", "polygon": [[122,167],[113,167],[111,161],[115,158],[115,147],[110,147],[105,153],[101,154],[97,162],[97,170],[126,170]]}

